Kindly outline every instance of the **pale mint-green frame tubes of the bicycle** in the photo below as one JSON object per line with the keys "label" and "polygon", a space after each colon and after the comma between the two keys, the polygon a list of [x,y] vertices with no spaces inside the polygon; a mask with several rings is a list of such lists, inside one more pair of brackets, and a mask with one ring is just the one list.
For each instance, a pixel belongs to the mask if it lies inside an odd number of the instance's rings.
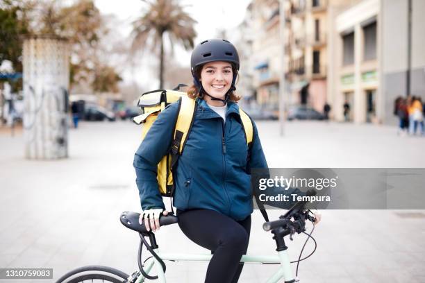
{"label": "pale mint-green frame tubes of the bicycle", "polygon": [[[210,254],[185,254],[185,253],[160,253],[159,249],[154,249],[156,254],[163,260],[170,261],[210,261],[213,255]],[[256,264],[278,264],[279,268],[267,280],[267,283],[276,283],[282,278],[285,282],[294,282],[294,277],[292,276],[292,270],[290,266],[290,260],[288,257],[287,250],[278,251],[278,255],[242,255],[241,262],[245,263],[256,263]],[[163,272],[163,268],[158,260],[154,257],[148,259],[148,261],[144,264],[144,271],[149,273],[153,266],[156,269],[156,275],[158,275],[159,283],[166,283],[165,274]],[[144,282],[145,277],[140,275],[136,280],[137,283]]]}

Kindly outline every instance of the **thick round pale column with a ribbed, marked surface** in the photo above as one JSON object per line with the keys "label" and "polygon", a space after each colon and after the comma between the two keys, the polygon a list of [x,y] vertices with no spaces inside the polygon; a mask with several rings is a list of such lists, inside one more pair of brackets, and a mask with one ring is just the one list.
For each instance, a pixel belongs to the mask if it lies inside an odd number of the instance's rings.
{"label": "thick round pale column with a ribbed, marked surface", "polygon": [[68,157],[69,49],[49,37],[24,41],[24,137],[28,159]]}

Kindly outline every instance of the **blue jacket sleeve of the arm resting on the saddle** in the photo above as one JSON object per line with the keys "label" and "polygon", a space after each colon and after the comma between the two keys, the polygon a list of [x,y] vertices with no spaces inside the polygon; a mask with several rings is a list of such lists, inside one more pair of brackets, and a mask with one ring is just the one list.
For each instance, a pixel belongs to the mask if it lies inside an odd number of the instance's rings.
{"label": "blue jacket sleeve of the arm resting on the saddle", "polygon": [[165,209],[156,175],[158,162],[167,154],[171,146],[177,114],[178,103],[168,105],[158,115],[134,155],[133,166],[143,210]]}

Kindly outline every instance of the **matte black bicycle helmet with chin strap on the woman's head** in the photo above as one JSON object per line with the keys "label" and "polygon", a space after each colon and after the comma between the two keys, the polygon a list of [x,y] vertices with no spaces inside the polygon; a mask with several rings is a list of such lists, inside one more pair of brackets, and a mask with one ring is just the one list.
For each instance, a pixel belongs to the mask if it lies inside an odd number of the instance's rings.
{"label": "matte black bicycle helmet with chin strap on the woman's head", "polygon": [[225,99],[222,100],[214,98],[214,100],[226,103],[230,92],[233,92],[236,89],[235,82],[239,71],[238,51],[236,51],[235,46],[227,40],[205,40],[193,49],[192,56],[190,57],[190,69],[192,71],[193,83],[201,92],[202,84],[199,81],[199,78],[197,78],[195,70],[208,62],[215,61],[231,62],[236,69],[233,73],[231,88],[226,93]]}

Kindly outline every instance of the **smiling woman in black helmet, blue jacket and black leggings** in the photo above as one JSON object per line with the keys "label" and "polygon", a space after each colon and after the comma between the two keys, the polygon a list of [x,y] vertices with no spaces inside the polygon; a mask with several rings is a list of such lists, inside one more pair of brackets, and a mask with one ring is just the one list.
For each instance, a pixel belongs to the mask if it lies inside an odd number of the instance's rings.
{"label": "smiling woman in black helmet, blue jacket and black leggings", "polygon": [[[213,253],[205,279],[210,283],[238,282],[243,268],[240,258],[247,252],[251,230],[251,168],[267,168],[255,123],[248,159],[237,104],[240,96],[235,94],[239,66],[238,51],[226,40],[206,40],[192,52],[194,85],[188,96],[197,101],[197,108],[174,179],[179,227]],[[160,214],[169,213],[158,191],[156,172],[171,146],[177,112],[178,103],[165,108],[135,153],[143,209],[140,223],[144,221],[153,231],[159,228]]]}

